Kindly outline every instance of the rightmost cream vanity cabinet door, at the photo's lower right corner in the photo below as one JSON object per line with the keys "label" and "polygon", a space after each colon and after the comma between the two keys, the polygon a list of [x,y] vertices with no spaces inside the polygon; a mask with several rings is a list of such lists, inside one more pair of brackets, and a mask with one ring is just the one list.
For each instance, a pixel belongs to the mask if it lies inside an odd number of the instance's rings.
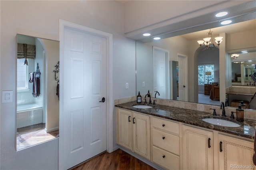
{"label": "rightmost cream vanity cabinet door, at the photo's lower right corner", "polygon": [[[254,143],[218,134],[219,165],[222,170],[254,169]],[[240,166],[240,167],[239,167]]]}

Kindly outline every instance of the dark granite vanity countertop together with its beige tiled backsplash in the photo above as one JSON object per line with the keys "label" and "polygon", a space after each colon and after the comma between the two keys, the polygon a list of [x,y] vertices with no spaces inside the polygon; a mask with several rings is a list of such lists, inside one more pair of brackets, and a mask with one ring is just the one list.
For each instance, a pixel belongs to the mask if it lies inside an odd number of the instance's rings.
{"label": "dark granite vanity countertop together with its beige tiled backsplash", "polygon": [[[133,97],[130,99],[133,99]],[[115,101],[115,106],[123,109],[137,111],[140,113],[146,113],[148,115],[153,115],[182,123],[187,123],[190,125],[195,125],[198,127],[204,127],[212,130],[217,130],[220,132],[226,132],[229,134],[254,139],[256,127],[256,111],[246,109],[244,111],[244,122],[236,121],[236,113],[234,113],[235,119],[232,121],[240,124],[241,126],[224,127],[202,121],[203,118],[212,117],[212,110],[210,109],[216,109],[216,113],[218,115],[217,117],[220,117],[222,119],[222,110],[218,106],[152,98],[152,101],[153,100],[157,100],[157,103],[161,103],[161,105],[151,105],[152,108],[150,109],[137,109],[132,107],[134,104],[137,104],[136,101],[118,104],[118,102],[121,103],[122,101],[127,101],[127,99],[118,99]],[[229,117],[231,111],[235,112],[236,110],[235,108],[225,108],[225,110],[227,115],[225,119],[230,120]]]}

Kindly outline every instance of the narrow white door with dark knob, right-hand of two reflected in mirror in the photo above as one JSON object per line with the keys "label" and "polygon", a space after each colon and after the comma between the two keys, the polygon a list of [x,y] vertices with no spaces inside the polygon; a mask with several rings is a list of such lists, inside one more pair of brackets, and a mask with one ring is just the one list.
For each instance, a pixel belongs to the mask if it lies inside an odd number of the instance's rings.
{"label": "narrow white door with dark knob, right-hand of two reflected in mirror", "polygon": [[186,56],[178,55],[179,67],[179,100],[188,101],[187,95],[187,58]]}

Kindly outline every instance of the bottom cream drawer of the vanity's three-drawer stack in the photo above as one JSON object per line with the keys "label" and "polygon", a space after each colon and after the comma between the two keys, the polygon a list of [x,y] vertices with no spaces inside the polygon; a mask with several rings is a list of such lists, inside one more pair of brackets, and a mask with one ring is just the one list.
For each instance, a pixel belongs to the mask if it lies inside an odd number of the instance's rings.
{"label": "bottom cream drawer of the vanity's three-drawer stack", "polygon": [[180,169],[180,157],[153,146],[153,162],[169,170]]}

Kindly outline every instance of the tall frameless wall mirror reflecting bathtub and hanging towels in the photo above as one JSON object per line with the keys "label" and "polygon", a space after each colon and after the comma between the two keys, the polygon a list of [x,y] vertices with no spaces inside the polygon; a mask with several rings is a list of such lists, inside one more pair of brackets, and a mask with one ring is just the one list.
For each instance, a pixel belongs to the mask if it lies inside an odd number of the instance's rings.
{"label": "tall frameless wall mirror reflecting bathtub and hanging towels", "polygon": [[59,42],[17,34],[16,150],[59,135]]}

